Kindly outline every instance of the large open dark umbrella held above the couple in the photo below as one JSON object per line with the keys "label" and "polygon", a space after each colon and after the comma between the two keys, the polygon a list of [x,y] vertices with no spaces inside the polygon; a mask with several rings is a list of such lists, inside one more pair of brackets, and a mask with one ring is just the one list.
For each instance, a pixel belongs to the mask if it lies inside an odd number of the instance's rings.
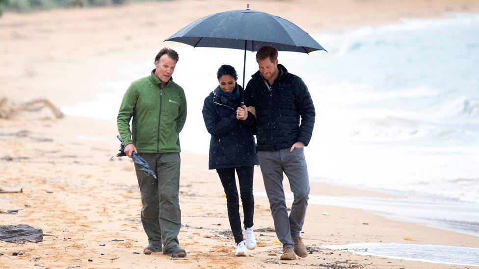
{"label": "large open dark umbrella held above the couple", "polygon": [[257,51],[272,46],[281,51],[309,53],[324,50],[307,32],[283,18],[249,9],[231,10],[203,17],[186,25],[165,41],[175,41],[193,47],[244,49]]}

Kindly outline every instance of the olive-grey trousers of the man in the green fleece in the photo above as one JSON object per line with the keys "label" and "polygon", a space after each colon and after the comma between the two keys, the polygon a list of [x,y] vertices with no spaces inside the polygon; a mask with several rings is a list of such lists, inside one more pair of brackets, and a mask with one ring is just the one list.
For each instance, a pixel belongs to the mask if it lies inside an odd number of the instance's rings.
{"label": "olive-grey trousers of the man in the green fleece", "polygon": [[163,245],[163,250],[178,246],[181,227],[180,153],[140,153],[158,179],[146,175],[135,165],[141,194],[141,222],[148,243]]}

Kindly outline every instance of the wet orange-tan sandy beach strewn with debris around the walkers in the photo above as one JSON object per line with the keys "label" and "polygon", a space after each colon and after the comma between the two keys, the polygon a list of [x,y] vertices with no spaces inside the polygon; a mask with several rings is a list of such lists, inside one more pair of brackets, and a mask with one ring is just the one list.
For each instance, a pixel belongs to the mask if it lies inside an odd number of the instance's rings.
{"label": "wet orange-tan sandy beach strewn with debris around the walkers", "polygon": [[[250,4],[252,9],[286,18],[307,32],[479,11],[479,2],[474,0],[261,0]],[[11,107],[38,98],[57,107],[89,101],[105,91],[99,85],[128,72],[119,66],[152,57],[166,45],[162,41],[184,25],[213,12],[245,7],[246,2],[236,0],[172,0],[5,12],[0,17],[0,99],[7,98]],[[185,90],[187,94],[189,89]],[[44,233],[40,243],[0,241],[0,268],[471,268],[356,255],[319,246],[403,243],[479,247],[477,236],[391,220],[360,209],[311,204],[302,234],[311,254],[280,261],[281,245],[275,243],[271,232],[274,226],[267,198],[257,196],[254,227],[261,229],[256,232],[258,247],[249,256],[238,258],[219,178],[208,170],[207,155],[184,149],[179,240],[187,257],[143,255],[147,238],[139,216],[141,200],[133,163],[126,157],[110,160],[119,148],[116,134],[114,121],[71,116],[56,119],[47,108],[0,118],[0,189],[23,190],[0,194],[0,225],[28,224]],[[254,180],[254,191],[264,192],[259,167]],[[285,189],[289,189],[287,180]],[[311,194],[389,197],[317,182],[311,183]],[[7,214],[8,210],[18,213]]]}

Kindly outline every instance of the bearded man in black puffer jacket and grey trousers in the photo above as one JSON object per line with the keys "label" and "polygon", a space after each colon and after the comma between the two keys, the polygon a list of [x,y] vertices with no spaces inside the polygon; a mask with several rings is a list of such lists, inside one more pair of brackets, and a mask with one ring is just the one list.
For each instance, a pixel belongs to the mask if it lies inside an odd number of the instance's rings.
{"label": "bearded man in black puffer jacket and grey trousers", "polygon": [[[303,147],[313,133],[315,109],[308,88],[300,77],[278,64],[278,51],[262,47],[256,53],[259,71],[245,90],[245,103],[256,108],[258,160],[276,235],[283,243],[282,260],[307,256],[299,236],[310,191]],[[241,108],[238,108],[241,110]],[[288,216],[283,190],[283,171],[294,201]]]}

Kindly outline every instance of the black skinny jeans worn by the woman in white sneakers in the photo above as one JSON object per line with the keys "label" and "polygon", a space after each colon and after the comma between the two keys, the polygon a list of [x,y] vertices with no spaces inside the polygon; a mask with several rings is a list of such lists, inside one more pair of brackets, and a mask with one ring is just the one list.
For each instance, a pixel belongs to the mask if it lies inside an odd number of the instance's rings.
{"label": "black skinny jeans worn by the woman in white sneakers", "polygon": [[238,174],[239,191],[243,205],[244,227],[253,227],[254,197],[253,197],[253,171],[254,166],[241,166],[236,168],[216,169],[219,179],[226,194],[226,205],[228,207],[228,219],[230,220],[231,231],[238,245],[243,241],[241,220],[239,219],[238,189],[236,188],[235,170]]}

